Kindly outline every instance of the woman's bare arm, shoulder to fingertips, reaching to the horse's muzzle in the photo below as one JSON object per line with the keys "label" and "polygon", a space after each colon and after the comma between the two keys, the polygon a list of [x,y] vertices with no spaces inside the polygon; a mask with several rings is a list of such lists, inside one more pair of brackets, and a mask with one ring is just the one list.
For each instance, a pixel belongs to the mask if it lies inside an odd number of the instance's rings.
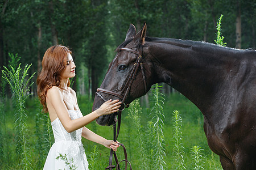
{"label": "woman's bare arm, shoulder to fingertips, reaching to the horse's muzzle", "polygon": [[59,117],[61,124],[63,124],[65,130],[67,130],[69,133],[86,126],[87,124],[104,114],[111,114],[117,112],[121,104],[121,102],[118,102],[118,100],[108,100],[104,104],[102,104],[101,107],[96,111],[89,113],[84,117],[71,120],[59,88],[55,86],[50,88],[47,91],[46,101],[49,114],[51,114],[50,111],[52,112],[52,114],[57,114],[57,117]]}

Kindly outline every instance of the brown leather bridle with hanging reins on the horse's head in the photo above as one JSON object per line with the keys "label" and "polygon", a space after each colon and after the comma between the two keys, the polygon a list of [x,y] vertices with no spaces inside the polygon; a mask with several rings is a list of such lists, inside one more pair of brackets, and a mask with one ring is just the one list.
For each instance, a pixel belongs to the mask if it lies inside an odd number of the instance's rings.
{"label": "brown leather bridle with hanging reins on the horse's head", "polygon": [[[120,94],[118,94],[117,92],[114,91],[109,91],[109,90],[105,90],[104,88],[97,88],[97,92],[96,95],[98,95],[102,100],[106,101],[106,99],[104,98],[104,96],[102,96],[100,93],[104,93],[104,94],[108,94],[108,95],[112,95],[115,97],[118,97],[119,99],[122,100],[122,104],[123,104],[123,109],[128,108],[129,104],[125,105],[125,100],[126,97],[130,91],[131,88],[131,84],[133,84],[133,80],[135,79],[135,75],[137,74],[138,68],[139,66],[141,66],[141,71],[142,71],[142,77],[143,77],[143,83],[144,83],[144,88],[145,88],[145,94],[147,92],[147,84],[146,84],[146,76],[144,74],[144,69],[143,69],[143,63],[142,63],[142,45],[139,47],[138,52],[133,50],[133,49],[129,49],[129,48],[121,48],[119,51],[126,51],[126,52],[130,52],[130,53],[134,53],[138,56],[138,58],[136,59],[136,62],[133,65],[133,69],[131,70],[131,73],[129,75],[129,78],[125,84],[125,86],[123,87],[122,91],[120,92]],[[124,94],[124,95],[123,95]],[[123,97],[122,97],[123,96]],[[117,141],[117,137],[119,134],[119,130],[120,130],[120,126],[121,126],[121,116],[122,116],[122,111],[118,111],[118,125],[117,125],[117,130],[116,130],[116,122],[113,125],[114,128],[114,141]],[[119,163],[121,162],[125,162],[125,170],[127,169],[127,164],[130,164],[130,169],[131,168],[131,163],[129,162],[129,160],[127,160],[127,152],[126,152],[126,148],[122,143],[118,143],[119,145],[121,145],[123,147],[123,152],[125,154],[125,159],[121,160],[120,162],[118,162],[117,159],[117,154],[115,153],[115,151],[113,151],[112,149],[110,150],[110,155],[109,155],[109,165],[108,167],[106,167],[105,169],[110,169],[112,170],[113,168],[117,167],[117,170],[120,169],[119,167]],[[114,158],[115,158],[115,162],[117,163],[117,165],[112,165],[112,160],[113,160],[113,154],[114,154]]]}

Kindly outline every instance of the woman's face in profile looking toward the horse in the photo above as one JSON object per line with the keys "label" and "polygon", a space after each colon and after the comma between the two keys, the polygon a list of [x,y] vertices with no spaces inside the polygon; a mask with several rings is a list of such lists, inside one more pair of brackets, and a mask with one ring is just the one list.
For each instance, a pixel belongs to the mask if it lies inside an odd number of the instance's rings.
{"label": "woman's face in profile looking toward the horse", "polygon": [[68,53],[67,65],[66,65],[65,69],[63,70],[63,72],[60,74],[61,78],[67,79],[67,78],[74,77],[76,75],[75,68],[76,68],[76,65],[73,61],[73,57],[71,56],[70,53]]}

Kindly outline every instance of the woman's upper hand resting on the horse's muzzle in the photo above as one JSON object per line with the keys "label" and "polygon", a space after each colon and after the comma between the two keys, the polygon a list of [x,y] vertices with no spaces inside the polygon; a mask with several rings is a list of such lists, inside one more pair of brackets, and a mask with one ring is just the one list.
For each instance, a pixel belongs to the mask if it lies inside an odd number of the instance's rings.
{"label": "woman's upper hand resting on the horse's muzzle", "polygon": [[104,114],[111,114],[119,111],[119,107],[121,107],[121,101],[110,99],[101,105],[100,108],[97,109],[97,114],[102,116]]}

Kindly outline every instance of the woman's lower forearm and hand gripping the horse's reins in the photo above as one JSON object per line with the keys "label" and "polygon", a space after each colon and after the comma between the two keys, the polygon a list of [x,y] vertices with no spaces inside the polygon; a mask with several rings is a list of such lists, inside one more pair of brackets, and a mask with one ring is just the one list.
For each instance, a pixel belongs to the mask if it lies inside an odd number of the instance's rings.
{"label": "woman's lower forearm and hand gripping the horse's reins", "polygon": [[82,128],[82,137],[92,142],[99,143],[107,148],[112,148],[113,151],[117,151],[117,148],[119,147],[117,142],[107,140],[101,137],[100,135],[93,133],[93,131],[90,131],[88,128],[85,128],[85,127]]}

